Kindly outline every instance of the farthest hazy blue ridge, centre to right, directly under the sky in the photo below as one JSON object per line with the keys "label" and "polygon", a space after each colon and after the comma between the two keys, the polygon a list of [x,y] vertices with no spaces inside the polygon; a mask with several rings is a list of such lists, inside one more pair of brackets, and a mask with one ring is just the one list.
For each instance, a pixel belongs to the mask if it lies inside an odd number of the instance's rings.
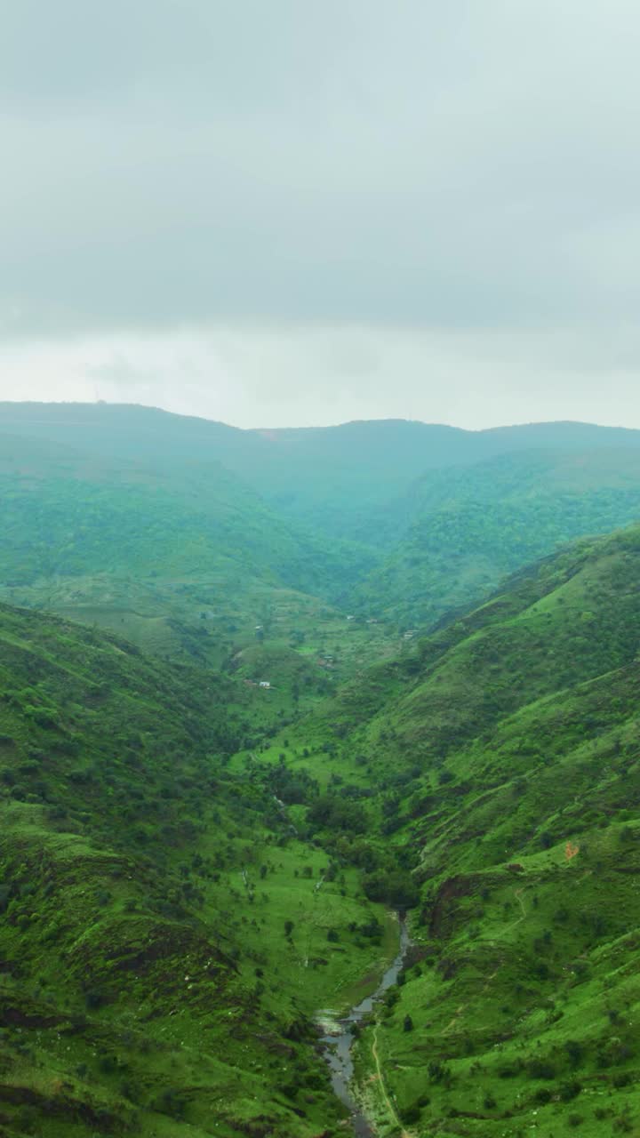
{"label": "farthest hazy blue ridge, centre to right, directly under the sky", "polygon": [[[412,484],[428,471],[536,450],[638,453],[640,445],[640,431],[572,422],[465,431],[381,420],[253,434],[271,444],[271,453],[261,453],[257,468],[270,501],[294,518],[311,512],[314,525],[333,537],[355,538],[374,549],[388,549],[413,520],[416,508],[419,516],[420,490],[416,494]],[[241,469],[232,455],[223,461],[230,469]]]}

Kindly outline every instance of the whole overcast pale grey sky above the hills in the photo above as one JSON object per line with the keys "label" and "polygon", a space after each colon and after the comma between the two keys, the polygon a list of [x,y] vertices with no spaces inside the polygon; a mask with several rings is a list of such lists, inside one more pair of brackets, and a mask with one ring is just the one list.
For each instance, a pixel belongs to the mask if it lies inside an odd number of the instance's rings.
{"label": "whole overcast pale grey sky above the hills", "polygon": [[640,427],[637,0],[0,27],[0,398]]}

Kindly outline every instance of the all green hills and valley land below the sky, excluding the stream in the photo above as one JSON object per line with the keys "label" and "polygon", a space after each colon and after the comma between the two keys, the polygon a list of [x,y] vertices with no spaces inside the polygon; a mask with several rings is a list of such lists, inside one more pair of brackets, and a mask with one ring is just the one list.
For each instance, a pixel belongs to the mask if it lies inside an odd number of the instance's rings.
{"label": "all green hills and valley land below the sky, excluding the stream", "polygon": [[0,1133],[640,1132],[640,432],[0,430]]}

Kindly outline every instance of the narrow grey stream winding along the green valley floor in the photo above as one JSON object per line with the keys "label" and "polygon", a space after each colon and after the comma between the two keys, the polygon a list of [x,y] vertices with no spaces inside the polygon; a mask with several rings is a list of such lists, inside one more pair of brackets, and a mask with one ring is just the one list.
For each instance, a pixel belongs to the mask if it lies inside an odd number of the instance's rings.
{"label": "narrow grey stream winding along the green valley floor", "polygon": [[352,1007],[347,1015],[331,1021],[330,1030],[327,1022],[327,1014],[320,1013],[318,1017],[318,1022],[325,1031],[322,1034],[322,1055],[331,1073],[331,1087],[340,1103],[346,1106],[351,1114],[351,1123],[355,1138],[376,1138],[376,1131],[371,1128],[371,1123],[364,1118],[351,1096],[350,1086],[353,1079],[353,1059],[351,1057],[353,1028],[371,1014],[376,1003],[384,996],[387,988],[391,988],[396,982],[410,945],[411,940],[407,930],[407,923],[401,921],[397,956],[389,964],[375,992],[371,996],[367,996],[355,1007]]}

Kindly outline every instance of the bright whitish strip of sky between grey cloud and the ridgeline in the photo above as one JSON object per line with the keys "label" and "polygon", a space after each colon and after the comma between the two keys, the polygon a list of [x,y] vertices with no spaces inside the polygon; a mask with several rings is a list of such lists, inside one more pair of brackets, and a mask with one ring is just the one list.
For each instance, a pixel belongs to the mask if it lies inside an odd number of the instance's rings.
{"label": "bright whitish strip of sky between grey cloud and the ridgeline", "polygon": [[[9,343],[0,398],[156,404],[240,427],[407,418],[491,427],[583,419],[640,428],[639,337],[371,325],[218,325]],[[590,351],[591,349],[591,351]]]}

